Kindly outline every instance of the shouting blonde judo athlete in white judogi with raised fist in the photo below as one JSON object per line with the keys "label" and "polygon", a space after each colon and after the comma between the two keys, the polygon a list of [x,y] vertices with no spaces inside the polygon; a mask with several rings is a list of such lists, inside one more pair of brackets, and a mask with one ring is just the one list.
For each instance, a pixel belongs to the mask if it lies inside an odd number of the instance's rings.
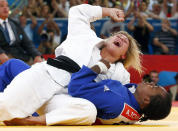
{"label": "shouting blonde judo athlete in white judogi with raised fist", "polygon": [[[90,22],[106,16],[118,22],[124,21],[124,13],[119,9],[87,4],[72,7],[67,39],[55,53],[56,56],[71,58],[80,67],[91,67],[101,58],[106,58],[112,63],[111,68],[107,74],[99,75],[96,81],[111,78],[127,84],[130,75],[126,68],[141,71],[140,51],[135,40],[126,32],[118,32],[106,40],[96,36]],[[0,94],[0,121],[26,118],[38,111],[44,115],[45,125],[91,125],[96,119],[95,106],[85,99],[63,93],[70,77],[69,72],[46,61],[20,73]]]}

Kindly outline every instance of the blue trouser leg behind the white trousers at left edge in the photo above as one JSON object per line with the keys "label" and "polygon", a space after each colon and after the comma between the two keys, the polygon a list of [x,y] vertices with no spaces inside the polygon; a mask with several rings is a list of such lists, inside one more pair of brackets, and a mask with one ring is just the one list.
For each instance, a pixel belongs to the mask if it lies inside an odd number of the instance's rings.
{"label": "blue trouser leg behind the white trousers at left edge", "polygon": [[22,71],[29,69],[30,66],[18,59],[10,59],[0,66],[0,92]]}

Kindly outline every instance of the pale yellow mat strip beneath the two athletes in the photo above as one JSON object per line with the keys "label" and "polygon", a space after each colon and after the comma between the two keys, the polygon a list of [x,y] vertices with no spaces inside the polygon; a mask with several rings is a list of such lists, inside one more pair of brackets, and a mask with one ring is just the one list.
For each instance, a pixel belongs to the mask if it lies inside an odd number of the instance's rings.
{"label": "pale yellow mat strip beneath the two athletes", "polygon": [[135,125],[102,126],[0,126],[0,131],[178,131],[178,107],[164,120],[146,121]]}

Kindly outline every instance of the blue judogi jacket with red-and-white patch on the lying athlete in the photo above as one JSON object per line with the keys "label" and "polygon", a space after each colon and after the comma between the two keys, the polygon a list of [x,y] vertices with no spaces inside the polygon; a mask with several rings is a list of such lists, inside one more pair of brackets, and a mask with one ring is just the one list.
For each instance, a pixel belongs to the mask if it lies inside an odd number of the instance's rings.
{"label": "blue judogi jacket with red-and-white patch on the lying athlete", "polygon": [[122,85],[116,80],[95,82],[97,73],[83,66],[72,75],[68,92],[73,97],[91,101],[97,108],[97,117],[102,124],[133,123],[140,118],[140,107],[128,89],[136,84]]}

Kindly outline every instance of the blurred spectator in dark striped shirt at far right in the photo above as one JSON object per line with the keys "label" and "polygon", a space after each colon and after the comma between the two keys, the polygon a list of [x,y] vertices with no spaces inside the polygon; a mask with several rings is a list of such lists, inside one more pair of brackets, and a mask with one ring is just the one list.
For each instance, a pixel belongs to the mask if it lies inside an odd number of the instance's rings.
{"label": "blurred spectator in dark striped shirt at far right", "polygon": [[175,54],[177,31],[171,28],[167,19],[162,20],[161,27],[153,39],[153,44],[158,47],[154,49],[155,54]]}

